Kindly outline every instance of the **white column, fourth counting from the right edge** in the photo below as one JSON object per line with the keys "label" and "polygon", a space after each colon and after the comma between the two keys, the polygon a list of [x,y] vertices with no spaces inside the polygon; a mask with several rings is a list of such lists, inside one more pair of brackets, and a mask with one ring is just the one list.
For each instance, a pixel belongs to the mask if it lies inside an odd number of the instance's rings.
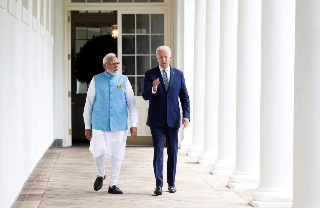
{"label": "white column, fourth counting from the right edge", "polygon": [[235,170],[236,150],[236,55],[238,1],[220,3],[219,144],[212,174]]}

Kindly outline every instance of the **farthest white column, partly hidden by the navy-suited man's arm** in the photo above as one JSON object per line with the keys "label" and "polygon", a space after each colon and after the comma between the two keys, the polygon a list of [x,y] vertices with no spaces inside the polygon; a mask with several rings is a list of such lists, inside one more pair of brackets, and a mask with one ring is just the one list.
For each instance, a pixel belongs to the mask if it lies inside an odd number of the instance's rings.
{"label": "farthest white column, partly hidden by the navy-suited man's arm", "polygon": [[[191,109],[193,105],[193,68],[190,66],[194,65],[194,33],[190,31],[194,31],[195,29],[195,0],[176,0],[178,4],[178,12],[182,12],[182,19],[179,21],[181,25],[183,25],[183,34],[179,36],[177,34],[177,38],[180,41],[183,41],[182,45],[179,47],[182,50],[182,59],[183,63],[181,66],[183,68],[178,68],[183,70],[184,78],[186,80],[186,85],[188,89],[188,94],[190,97]],[[182,5],[181,5],[182,4]],[[180,8],[182,6],[183,8]],[[178,18],[180,15],[178,14]],[[182,39],[182,40],[181,40]],[[178,50],[177,50],[178,52]],[[181,51],[179,51],[181,53]],[[174,57],[172,57],[174,58]],[[174,61],[174,60],[172,60]],[[182,114],[181,114],[182,116]],[[186,129],[180,129],[179,134],[183,132],[183,140],[180,142],[180,149],[183,151],[188,151],[188,147],[192,144],[192,130],[193,130],[193,110],[191,110],[191,122]]]}

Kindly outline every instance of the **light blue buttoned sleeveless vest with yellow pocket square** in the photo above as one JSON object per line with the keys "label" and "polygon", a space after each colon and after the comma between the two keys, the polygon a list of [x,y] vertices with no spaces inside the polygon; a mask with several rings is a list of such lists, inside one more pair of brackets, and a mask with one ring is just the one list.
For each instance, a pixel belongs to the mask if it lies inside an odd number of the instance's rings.
{"label": "light blue buttoned sleeveless vest with yellow pocket square", "polygon": [[92,110],[92,129],[124,131],[128,129],[128,111],[124,91],[127,77],[104,71],[93,76],[96,99]]}

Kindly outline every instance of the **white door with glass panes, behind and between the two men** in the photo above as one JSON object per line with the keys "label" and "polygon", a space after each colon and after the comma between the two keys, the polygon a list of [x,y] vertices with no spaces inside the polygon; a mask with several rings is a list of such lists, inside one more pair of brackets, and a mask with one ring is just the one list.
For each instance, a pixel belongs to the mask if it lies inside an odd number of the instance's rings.
{"label": "white door with glass panes, behind and between the two men", "polygon": [[[159,10],[118,13],[118,59],[122,74],[128,77],[136,96],[139,111],[138,136],[142,137],[151,138],[150,128],[146,125],[149,102],[142,98],[144,74],[158,66],[156,48],[170,46],[170,35],[165,34],[165,31],[169,31],[169,24],[166,24],[168,16],[167,11]],[[128,125],[130,126],[129,121]]]}

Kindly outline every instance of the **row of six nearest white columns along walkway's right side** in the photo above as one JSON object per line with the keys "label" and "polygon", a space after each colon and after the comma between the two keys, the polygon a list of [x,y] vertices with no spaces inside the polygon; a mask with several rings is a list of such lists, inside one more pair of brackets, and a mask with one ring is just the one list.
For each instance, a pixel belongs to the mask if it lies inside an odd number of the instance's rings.
{"label": "row of six nearest white columns along walkway's right side", "polygon": [[320,1],[295,3],[196,1],[187,154],[253,207],[320,207]]}

